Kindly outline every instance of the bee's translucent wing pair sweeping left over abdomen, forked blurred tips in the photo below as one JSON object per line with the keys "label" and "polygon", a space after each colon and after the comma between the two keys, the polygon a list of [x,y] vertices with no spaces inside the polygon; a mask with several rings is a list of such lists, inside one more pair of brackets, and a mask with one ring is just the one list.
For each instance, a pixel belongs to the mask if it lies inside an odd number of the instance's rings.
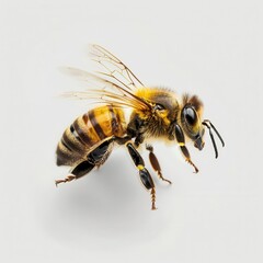
{"label": "bee's translucent wing pair sweeping left over abdomen, forked blurred tips", "polygon": [[62,71],[78,77],[88,82],[91,87],[96,88],[80,92],[67,92],[64,93],[64,96],[80,100],[93,99],[95,103],[106,103],[116,107],[127,106],[139,111],[151,110],[151,105],[144,99],[135,95],[127,88],[118,85],[108,79],[71,67],[62,68]]}

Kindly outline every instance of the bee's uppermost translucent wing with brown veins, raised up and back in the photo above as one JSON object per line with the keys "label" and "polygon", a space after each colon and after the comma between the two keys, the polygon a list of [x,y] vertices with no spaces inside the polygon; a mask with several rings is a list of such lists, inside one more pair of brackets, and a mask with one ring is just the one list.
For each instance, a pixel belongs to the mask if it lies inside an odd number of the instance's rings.
{"label": "bee's uppermost translucent wing with brown veins, raised up and back", "polygon": [[103,71],[99,73],[104,78],[106,77],[130,91],[144,87],[133,71],[108,50],[99,45],[91,45],[90,49],[92,60],[99,62],[103,68]]}

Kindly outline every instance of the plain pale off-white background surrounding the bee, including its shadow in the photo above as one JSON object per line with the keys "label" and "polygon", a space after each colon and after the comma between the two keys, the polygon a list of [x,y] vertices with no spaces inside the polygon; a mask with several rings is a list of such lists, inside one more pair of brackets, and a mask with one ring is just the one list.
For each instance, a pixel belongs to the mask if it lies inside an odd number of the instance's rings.
{"label": "plain pale off-white background surrounding the bee, including its shadow", "polygon": [[[262,262],[262,18],[261,1],[1,1],[0,261]],[[94,70],[89,43],[198,94],[226,141],[217,160],[208,136],[190,147],[198,174],[158,142],[173,184],[153,176],[156,211],[123,148],[55,187],[57,141],[88,108],[59,98],[82,88],[58,68]]]}

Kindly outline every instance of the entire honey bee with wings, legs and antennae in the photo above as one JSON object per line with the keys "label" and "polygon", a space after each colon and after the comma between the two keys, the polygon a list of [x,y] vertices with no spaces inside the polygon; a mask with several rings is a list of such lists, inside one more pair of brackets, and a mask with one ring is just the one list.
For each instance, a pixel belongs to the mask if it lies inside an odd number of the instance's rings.
{"label": "entire honey bee with wings, legs and antennae", "polygon": [[[213,130],[221,145],[225,142],[208,119],[203,119],[203,103],[196,95],[184,94],[182,98],[169,89],[146,87],[132,70],[117,57],[99,45],[91,46],[91,56],[103,71],[96,75],[76,68],[67,68],[71,75],[81,77],[95,89],[83,92],[69,92],[67,96],[96,99],[96,107],[79,116],[64,133],[56,155],[57,165],[69,165],[69,175],[56,180],[56,185],[79,179],[94,168],[102,165],[111,155],[114,145],[124,145],[138,170],[139,179],[151,195],[151,209],[156,209],[156,186],[138,152],[145,144],[149,160],[158,176],[170,183],[162,175],[150,138],[164,139],[178,144],[185,161],[198,172],[186,148],[186,140],[202,150],[205,128],[218,157]],[[125,110],[130,110],[129,117]]]}

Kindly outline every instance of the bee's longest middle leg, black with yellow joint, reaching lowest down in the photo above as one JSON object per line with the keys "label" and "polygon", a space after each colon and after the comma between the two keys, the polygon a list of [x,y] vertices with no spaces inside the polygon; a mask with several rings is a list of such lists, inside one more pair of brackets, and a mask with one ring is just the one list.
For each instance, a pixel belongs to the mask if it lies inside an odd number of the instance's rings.
{"label": "bee's longest middle leg, black with yellow joint, reaching lowest down", "polygon": [[126,147],[128,149],[128,152],[136,165],[136,168],[139,170],[139,176],[140,181],[146,187],[146,190],[150,191],[151,194],[151,209],[156,210],[156,188],[155,183],[152,181],[152,178],[148,170],[145,168],[145,161],[142,157],[139,155],[139,152],[135,149],[135,146],[132,142],[127,142]]}

